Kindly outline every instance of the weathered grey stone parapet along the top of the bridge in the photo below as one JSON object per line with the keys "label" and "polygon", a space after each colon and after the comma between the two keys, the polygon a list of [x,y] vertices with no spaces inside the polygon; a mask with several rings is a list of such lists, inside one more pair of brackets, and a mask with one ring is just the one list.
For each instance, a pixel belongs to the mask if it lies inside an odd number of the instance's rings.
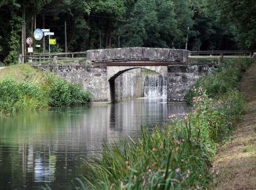
{"label": "weathered grey stone parapet along the top of the bridge", "polygon": [[124,47],[88,50],[86,54],[87,61],[92,63],[116,61],[164,61],[184,63],[188,58],[188,50],[154,47]]}

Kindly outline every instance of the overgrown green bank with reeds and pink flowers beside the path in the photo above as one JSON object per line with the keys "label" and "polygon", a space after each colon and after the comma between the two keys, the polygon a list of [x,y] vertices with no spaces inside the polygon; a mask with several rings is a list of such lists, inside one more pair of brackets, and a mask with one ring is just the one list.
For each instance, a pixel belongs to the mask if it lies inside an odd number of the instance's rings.
{"label": "overgrown green bank with reeds and pink flowers beside the path", "polygon": [[218,142],[236,125],[244,110],[238,91],[241,73],[252,60],[219,66],[189,92],[191,113],[183,120],[146,132],[138,141],[105,146],[102,158],[84,161],[83,187],[91,189],[199,189],[207,186],[208,168]]}

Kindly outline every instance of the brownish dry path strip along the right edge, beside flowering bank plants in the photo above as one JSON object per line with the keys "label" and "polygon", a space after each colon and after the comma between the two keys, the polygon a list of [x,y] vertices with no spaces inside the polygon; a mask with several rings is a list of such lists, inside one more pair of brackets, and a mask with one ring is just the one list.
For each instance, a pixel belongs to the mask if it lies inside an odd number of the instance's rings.
{"label": "brownish dry path strip along the right edge, beside flowering bank plants", "polygon": [[246,114],[230,142],[218,148],[211,189],[256,189],[256,64],[245,73],[241,91]]}

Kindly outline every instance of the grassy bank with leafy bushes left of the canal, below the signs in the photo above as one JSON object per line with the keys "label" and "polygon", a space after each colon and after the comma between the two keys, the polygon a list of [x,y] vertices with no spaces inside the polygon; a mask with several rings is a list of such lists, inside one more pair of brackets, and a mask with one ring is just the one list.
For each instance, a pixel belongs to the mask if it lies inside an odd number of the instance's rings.
{"label": "grassy bank with leafy bushes left of the canal, below the signs", "polygon": [[0,114],[42,107],[86,104],[90,94],[53,74],[46,74],[26,64],[0,70]]}

